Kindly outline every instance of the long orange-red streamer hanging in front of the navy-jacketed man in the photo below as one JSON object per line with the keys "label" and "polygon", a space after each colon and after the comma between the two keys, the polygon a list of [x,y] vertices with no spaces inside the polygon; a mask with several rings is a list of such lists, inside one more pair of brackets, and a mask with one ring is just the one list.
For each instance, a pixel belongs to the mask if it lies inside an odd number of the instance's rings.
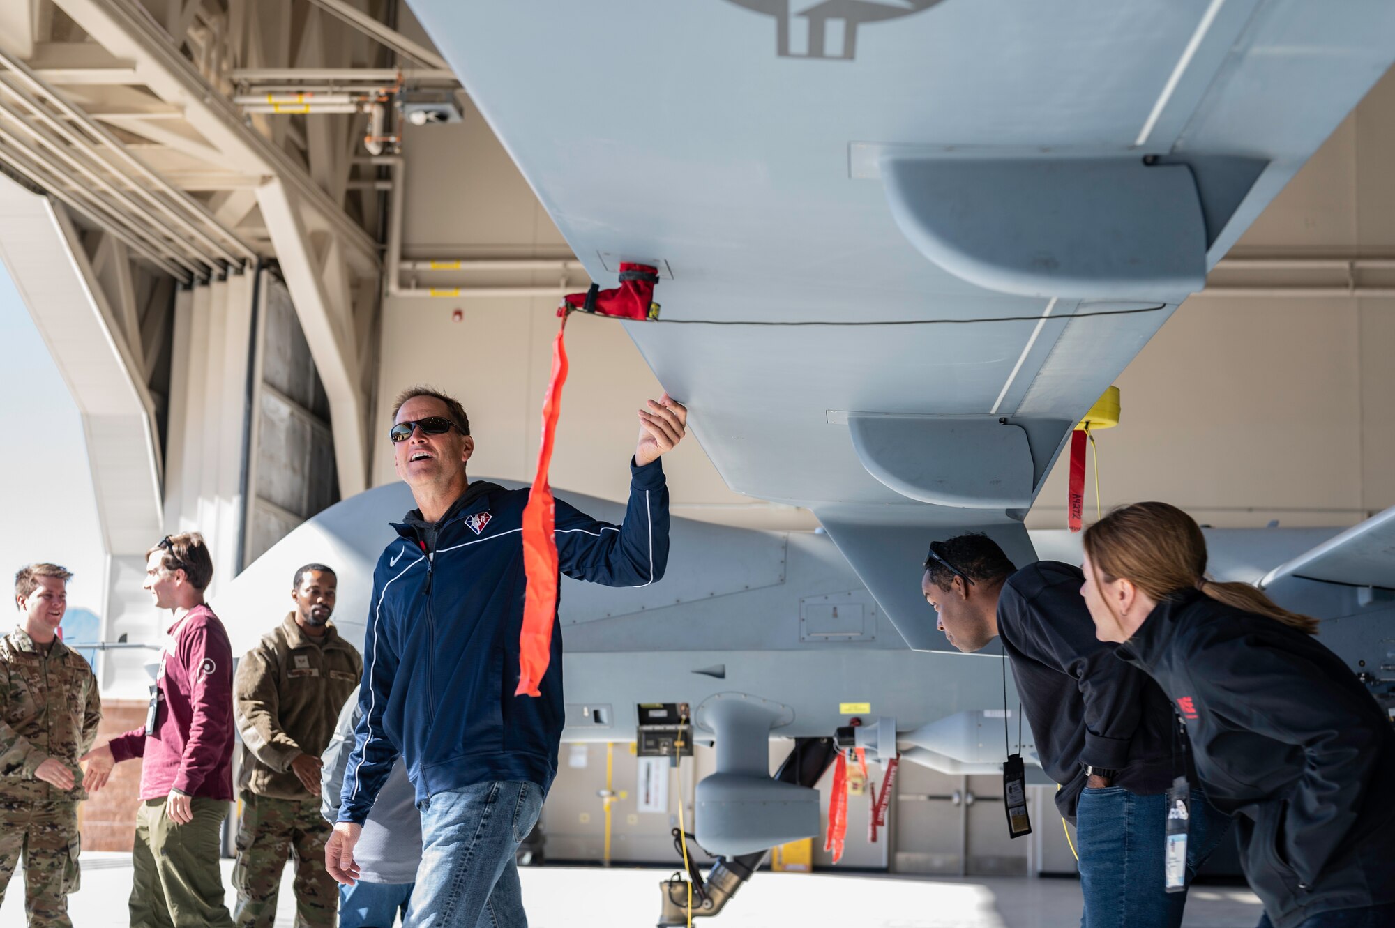
{"label": "long orange-red streamer hanging in front of the navy-jacketed man", "polygon": [[552,378],[543,396],[543,443],[537,449],[537,474],[523,507],[523,628],[519,633],[519,686],[513,695],[543,695],[538,683],[547,673],[557,619],[557,500],[547,482],[552,463],[552,438],[562,412],[562,385],[566,383],[566,315],[552,341]]}

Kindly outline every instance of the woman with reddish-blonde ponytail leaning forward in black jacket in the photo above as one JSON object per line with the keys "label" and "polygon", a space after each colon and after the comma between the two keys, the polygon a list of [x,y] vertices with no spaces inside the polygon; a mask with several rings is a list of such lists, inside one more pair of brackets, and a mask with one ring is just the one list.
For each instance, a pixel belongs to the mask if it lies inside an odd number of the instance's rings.
{"label": "woman with reddish-blonde ponytail leaning forward in black jacket", "polygon": [[1173,701],[1261,928],[1395,925],[1395,733],[1317,620],[1208,580],[1201,528],[1166,503],[1115,510],[1084,548],[1095,633]]}

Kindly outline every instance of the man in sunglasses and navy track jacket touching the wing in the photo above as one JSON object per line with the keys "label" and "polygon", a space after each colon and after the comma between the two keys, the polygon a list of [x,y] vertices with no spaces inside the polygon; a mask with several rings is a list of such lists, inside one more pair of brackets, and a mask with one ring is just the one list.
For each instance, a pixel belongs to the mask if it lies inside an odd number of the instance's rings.
{"label": "man in sunglasses and navy track jacket touching the wing", "polygon": [[[658,457],[684,436],[688,411],[668,399],[640,410],[621,525],[557,502],[557,552],[568,577],[646,587],[668,557],[668,490]],[[470,484],[470,422],[423,387],[396,404],[395,465],[417,509],[374,571],[364,641],[363,718],[345,771],[325,864],[342,883],[353,847],[400,755],[421,810],[423,856],[407,924],[474,928],[481,913],[523,927],[513,854],[557,773],[565,706],[562,635],[554,619],[541,697],[513,695],[523,620],[522,517],[529,492]]]}

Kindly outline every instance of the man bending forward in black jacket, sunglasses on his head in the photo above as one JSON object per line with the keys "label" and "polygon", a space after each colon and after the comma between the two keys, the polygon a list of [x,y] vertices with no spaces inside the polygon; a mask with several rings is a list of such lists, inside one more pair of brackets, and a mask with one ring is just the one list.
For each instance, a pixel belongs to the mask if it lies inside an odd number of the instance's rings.
{"label": "man bending forward in black jacket, sunglasses on his head", "polygon": [[[930,543],[921,592],[960,651],[1003,640],[1056,805],[1077,823],[1083,928],[1176,928],[1186,893],[1163,889],[1165,810],[1186,755],[1168,698],[1095,638],[1083,581],[1056,562],[1017,570],[974,534]],[[1189,876],[1226,825],[1198,791],[1191,805]]]}

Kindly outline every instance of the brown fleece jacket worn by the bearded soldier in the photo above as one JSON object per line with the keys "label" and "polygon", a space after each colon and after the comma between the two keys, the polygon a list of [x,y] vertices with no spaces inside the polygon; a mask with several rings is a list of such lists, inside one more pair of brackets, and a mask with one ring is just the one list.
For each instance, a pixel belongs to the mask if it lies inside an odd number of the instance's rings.
{"label": "brown fleece jacket worn by the bearded soldier", "polygon": [[290,613],[262,635],[233,680],[233,720],[243,737],[239,791],[318,803],[318,790],[307,790],[290,762],[324,752],[361,674],[363,658],[333,624],[311,638]]}

